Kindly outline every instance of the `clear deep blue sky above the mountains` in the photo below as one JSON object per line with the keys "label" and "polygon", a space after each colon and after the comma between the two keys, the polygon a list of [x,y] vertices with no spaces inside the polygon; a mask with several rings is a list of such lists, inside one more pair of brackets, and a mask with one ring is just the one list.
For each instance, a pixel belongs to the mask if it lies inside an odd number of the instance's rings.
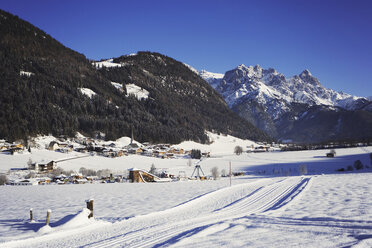
{"label": "clear deep blue sky above the mountains", "polygon": [[160,52],[212,72],[239,64],[285,76],[309,69],[327,88],[372,95],[369,0],[0,0],[91,59]]}

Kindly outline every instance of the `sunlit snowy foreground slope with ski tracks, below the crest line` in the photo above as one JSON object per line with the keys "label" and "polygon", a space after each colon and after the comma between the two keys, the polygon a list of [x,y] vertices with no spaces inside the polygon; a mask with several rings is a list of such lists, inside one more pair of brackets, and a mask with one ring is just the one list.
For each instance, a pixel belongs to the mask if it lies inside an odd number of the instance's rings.
{"label": "sunlit snowy foreground slope with ski tracks, below the crest line", "polygon": [[[67,190],[64,186],[46,186],[39,191],[25,187],[27,192],[18,190],[20,187],[3,187],[0,197],[8,200],[0,203],[5,209],[0,216],[6,215],[0,227],[8,225],[9,229],[1,239],[7,242],[0,245],[370,247],[371,176],[364,173],[246,178],[234,180],[232,187],[226,187],[228,180],[71,185]],[[137,193],[139,190],[141,194]],[[94,196],[97,203],[95,219],[90,222],[83,218],[86,210],[79,209],[84,204],[79,199],[88,195]],[[61,206],[61,196],[73,207]],[[19,198],[24,199],[22,204],[17,201]],[[27,223],[27,213],[22,208],[40,203],[37,199],[45,199],[44,205],[55,209],[52,213],[70,211],[70,216],[52,219],[50,228],[43,233],[43,218]],[[41,214],[44,205],[38,205]],[[11,233],[14,236],[9,236]]]}

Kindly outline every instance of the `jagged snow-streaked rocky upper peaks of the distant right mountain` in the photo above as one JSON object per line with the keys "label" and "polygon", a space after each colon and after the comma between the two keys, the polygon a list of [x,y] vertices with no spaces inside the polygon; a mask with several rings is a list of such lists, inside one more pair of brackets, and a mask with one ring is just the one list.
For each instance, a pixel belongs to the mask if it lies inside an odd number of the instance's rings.
{"label": "jagged snow-streaked rocky upper peaks of the distant right mountain", "polygon": [[[226,72],[219,85],[214,85],[217,91],[225,97],[227,104],[233,107],[242,98],[263,97],[259,102],[267,102],[269,98],[287,102],[313,105],[338,106],[355,109],[358,100],[365,98],[351,96],[331,89],[326,89],[308,69],[299,75],[286,78],[275,69],[263,69],[261,66],[239,65],[234,70]],[[270,92],[270,94],[268,93]],[[272,97],[270,97],[272,96]],[[360,105],[360,103],[358,104]]]}

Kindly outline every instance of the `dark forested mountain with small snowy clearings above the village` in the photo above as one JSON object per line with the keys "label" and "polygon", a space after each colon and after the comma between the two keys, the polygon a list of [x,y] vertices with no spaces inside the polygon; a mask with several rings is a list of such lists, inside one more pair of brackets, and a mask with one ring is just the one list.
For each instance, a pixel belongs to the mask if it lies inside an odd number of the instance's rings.
{"label": "dark forested mountain with small snowy clearings above the village", "polygon": [[0,10],[0,137],[38,134],[178,143],[208,142],[205,131],[270,138],[231,111],[184,64],[138,52],[90,61]]}

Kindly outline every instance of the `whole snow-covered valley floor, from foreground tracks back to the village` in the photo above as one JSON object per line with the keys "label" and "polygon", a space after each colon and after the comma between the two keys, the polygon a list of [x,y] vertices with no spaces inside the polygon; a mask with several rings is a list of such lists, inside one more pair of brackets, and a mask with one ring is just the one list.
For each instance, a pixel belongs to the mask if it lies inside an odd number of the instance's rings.
{"label": "whole snow-covered valley floor, from foreground tracks back to the village", "polygon": [[[216,144],[210,146],[212,157],[201,162],[206,174],[215,166],[228,171],[230,162],[234,171],[250,172],[233,178],[231,187],[227,178],[2,186],[0,247],[372,247],[372,171],[335,171],[357,159],[370,165],[372,147],[337,149],[335,158],[325,157],[328,150],[237,156],[232,154],[235,143],[231,141],[230,147],[225,142],[228,148],[219,147],[220,152]],[[30,157],[49,161],[76,155],[81,154],[46,150],[1,154],[0,168],[24,167]],[[190,176],[194,168],[187,161],[94,156],[58,166],[124,171],[148,170],[154,163],[176,175],[186,171]],[[299,176],[303,164],[308,175]],[[88,219],[84,210],[85,200],[91,198],[94,219]],[[30,208],[34,223],[29,223]],[[48,209],[52,213],[46,227]]]}

